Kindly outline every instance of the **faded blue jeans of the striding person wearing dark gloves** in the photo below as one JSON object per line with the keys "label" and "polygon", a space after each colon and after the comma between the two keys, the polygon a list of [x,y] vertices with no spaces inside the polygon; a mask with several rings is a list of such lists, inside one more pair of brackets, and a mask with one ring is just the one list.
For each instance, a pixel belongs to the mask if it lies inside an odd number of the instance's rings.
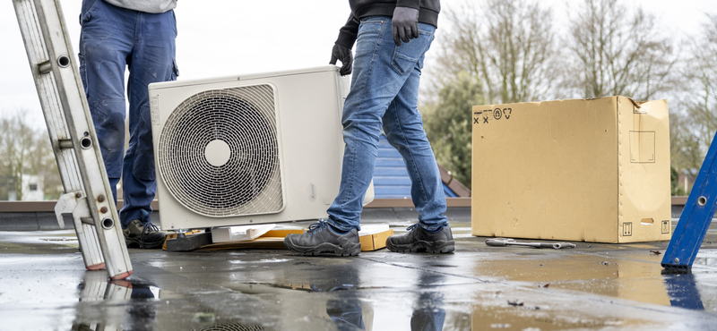
{"label": "faded blue jeans of the striding person wearing dark gloves", "polygon": [[341,119],[346,143],[341,188],[328,209],[329,224],[340,230],[359,229],[382,126],[408,169],[419,225],[429,231],[448,225],[443,183],[418,109],[420,71],[436,28],[419,23],[419,31],[419,38],[397,47],[390,17],[365,18],[358,26],[351,89]]}

